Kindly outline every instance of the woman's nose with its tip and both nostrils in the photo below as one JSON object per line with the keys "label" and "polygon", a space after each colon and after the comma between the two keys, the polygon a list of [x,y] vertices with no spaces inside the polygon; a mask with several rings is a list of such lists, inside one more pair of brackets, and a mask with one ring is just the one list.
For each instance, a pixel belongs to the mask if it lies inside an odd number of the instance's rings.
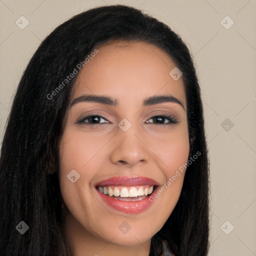
{"label": "woman's nose with its tip and both nostrils", "polygon": [[145,136],[131,126],[127,131],[118,128],[112,141],[110,160],[112,163],[126,165],[145,164],[150,156]]}

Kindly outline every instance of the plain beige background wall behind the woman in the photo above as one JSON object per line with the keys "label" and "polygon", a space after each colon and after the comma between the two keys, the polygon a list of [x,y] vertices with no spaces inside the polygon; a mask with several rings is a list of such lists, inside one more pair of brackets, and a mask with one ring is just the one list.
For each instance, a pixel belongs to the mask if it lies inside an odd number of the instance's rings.
{"label": "plain beige background wall behind the woman", "polygon": [[[0,140],[13,93],[41,40],[71,16],[115,3],[167,23],[191,50],[210,155],[208,255],[256,255],[256,0],[0,0]],[[15,24],[22,15],[29,21],[24,29]],[[229,29],[227,15],[234,21]]]}

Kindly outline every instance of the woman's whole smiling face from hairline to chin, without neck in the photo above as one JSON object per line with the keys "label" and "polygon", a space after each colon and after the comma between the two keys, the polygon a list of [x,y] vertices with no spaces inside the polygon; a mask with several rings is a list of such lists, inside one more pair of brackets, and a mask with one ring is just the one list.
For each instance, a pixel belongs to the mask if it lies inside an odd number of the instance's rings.
{"label": "woman's whole smiling face from hairline to chin, without neck", "polygon": [[77,75],[59,146],[66,224],[105,243],[148,244],[183,184],[189,137],[182,76],[169,75],[175,63],[151,44],[120,41],[97,50]]}

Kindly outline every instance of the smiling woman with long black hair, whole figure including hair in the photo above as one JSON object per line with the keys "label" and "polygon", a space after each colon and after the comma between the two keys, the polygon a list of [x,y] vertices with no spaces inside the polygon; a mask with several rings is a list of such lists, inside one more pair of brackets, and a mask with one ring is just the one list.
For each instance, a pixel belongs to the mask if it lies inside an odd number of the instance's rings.
{"label": "smiling woman with long black hair, whole figure including hair", "polygon": [[18,85],[0,173],[3,255],[206,255],[207,148],[186,45],[124,5],[59,25]]}

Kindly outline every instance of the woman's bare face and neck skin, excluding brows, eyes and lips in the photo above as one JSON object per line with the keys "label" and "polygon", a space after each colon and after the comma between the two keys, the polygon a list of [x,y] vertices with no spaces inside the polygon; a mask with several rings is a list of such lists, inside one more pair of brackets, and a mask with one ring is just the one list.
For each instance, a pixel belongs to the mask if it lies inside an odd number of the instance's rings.
{"label": "woman's bare face and neck skin, excluding brows, eyes and lips", "polygon": [[[64,200],[64,233],[75,256],[149,254],[151,237],[163,226],[181,192],[184,173],[139,214],[119,212],[104,204],[95,189],[103,179],[118,175],[141,175],[166,183],[179,166],[187,162],[189,136],[182,77],[169,75],[176,65],[158,47],[144,42],[112,42],[98,47],[98,53],[81,69],[71,102],[84,94],[114,97],[118,105],[93,101],[69,106],[60,140],[60,189]],[[175,102],[142,106],[145,97],[168,94]],[[103,116],[100,123],[80,117]],[[151,118],[172,114],[177,124]],[[131,127],[123,131],[118,123],[126,118]],[[97,119],[96,119],[97,120]],[[148,123],[147,123],[148,121]],[[88,126],[88,122],[97,123]],[[80,178],[66,177],[75,169]],[[118,226],[126,221],[130,230]]]}

